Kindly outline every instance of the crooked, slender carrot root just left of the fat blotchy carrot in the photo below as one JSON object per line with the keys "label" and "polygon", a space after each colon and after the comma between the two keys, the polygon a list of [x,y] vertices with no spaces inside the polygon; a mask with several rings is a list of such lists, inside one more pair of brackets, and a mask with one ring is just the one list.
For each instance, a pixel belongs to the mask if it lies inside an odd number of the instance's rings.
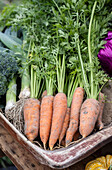
{"label": "crooked, slender carrot root just left of the fat blotchy carrot", "polygon": [[83,102],[83,97],[84,89],[82,87],[76,88],[71,104],[70,123],[66,133],[66,146],[72,141],[73,136],[78,129],[79,113]]}

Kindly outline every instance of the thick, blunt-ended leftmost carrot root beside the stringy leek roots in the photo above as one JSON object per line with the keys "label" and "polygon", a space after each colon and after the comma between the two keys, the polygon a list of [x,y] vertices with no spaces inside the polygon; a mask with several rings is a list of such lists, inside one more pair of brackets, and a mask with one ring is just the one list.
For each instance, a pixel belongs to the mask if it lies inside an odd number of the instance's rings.
{"label": "thick, blunt-ended leftmost carrot root beside the stringy leek roots", "polygon": [[29,98],[24,104],[25,135],[30,141],[38,136],[40,102]]}

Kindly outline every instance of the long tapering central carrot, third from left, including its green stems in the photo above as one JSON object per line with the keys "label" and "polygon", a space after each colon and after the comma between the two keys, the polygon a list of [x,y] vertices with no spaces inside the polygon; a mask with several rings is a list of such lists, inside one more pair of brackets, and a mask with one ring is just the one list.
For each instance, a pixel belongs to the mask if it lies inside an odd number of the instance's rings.
{"label": "long tapering central carrot, third from left, including its green stems", "polygon": [[53,103],[53,117],[49,139],[50,150],[53,149],[54,144],[59,139],[67,111],[67,97],[64,94],[66,75],[65,54],[60,55],[57,53],[55,59],[56,59],[56,76],[58,93],[55,95]]}

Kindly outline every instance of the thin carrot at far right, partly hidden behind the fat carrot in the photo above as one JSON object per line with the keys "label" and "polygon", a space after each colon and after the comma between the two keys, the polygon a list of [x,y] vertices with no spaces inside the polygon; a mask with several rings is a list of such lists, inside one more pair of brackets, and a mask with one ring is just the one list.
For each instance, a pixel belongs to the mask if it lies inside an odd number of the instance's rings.
{"label": "thin carrot at far right, partly hidden behind the fat carrot", "polygon": [[102,114],[103,114],[103,109],[104,109],[104,105],[105,105],[105,99],[104,99],[104,94],[103,93],[99,93],[99,103],[100,103],[100,113],[98,115],[98,120],[96,123],[96,126],[99,128],[99,130],[103,129],[104,125],[102,122]]}

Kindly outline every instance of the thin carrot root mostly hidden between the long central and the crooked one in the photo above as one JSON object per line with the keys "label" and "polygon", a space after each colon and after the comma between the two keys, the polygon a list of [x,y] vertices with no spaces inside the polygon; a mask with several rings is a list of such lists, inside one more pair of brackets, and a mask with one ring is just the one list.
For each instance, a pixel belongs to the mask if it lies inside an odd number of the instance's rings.
{"label": "thin carrot root mostly hidden between the long central and the crooked one", "polygon": [[64,138],[68,125],[69,125],[69,120],[70,120],[70,108],[67,108],[67,112],[65,115],[64,123],[63,123],[63,128],[61,131],[61,134],[59,136],[59,145],[61,144],[62,139]]}

